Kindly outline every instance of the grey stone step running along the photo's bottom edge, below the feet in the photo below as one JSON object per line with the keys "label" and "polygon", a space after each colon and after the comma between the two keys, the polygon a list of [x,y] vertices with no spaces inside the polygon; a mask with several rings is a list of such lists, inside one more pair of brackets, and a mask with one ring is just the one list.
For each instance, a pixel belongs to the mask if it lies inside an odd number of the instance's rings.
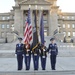
{"label": "grey stone step running along the photo's bottom edge, below the feet", "polygon": [[4,71],[0,75],[75,75],[75,71]]}

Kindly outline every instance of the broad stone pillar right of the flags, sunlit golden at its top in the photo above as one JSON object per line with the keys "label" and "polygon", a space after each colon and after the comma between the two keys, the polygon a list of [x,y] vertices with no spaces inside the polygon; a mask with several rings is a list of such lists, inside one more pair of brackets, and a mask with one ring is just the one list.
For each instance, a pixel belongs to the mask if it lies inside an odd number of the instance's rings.
{"label": "broad stone pillar right of the flags, sunlit golden at its top", "polygon": [[49,10],[49,36],[53,36],[54,31],[58,29],[58,7],[52,6]]}

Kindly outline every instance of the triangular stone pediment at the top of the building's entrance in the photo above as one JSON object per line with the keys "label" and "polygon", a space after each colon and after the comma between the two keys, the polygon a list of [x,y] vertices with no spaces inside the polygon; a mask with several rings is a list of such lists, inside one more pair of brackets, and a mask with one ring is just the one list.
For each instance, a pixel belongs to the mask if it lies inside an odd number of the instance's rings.
{"label": "triangular stone pediment at the top of the building's entrance", "polygon": [[50,2],[47,2],[46,0],[23,0],[22,2],[19,2],[19,4],[34,4],[34,5],[39,5],[39,4],[45,4],[45,5],[50,5]]}

